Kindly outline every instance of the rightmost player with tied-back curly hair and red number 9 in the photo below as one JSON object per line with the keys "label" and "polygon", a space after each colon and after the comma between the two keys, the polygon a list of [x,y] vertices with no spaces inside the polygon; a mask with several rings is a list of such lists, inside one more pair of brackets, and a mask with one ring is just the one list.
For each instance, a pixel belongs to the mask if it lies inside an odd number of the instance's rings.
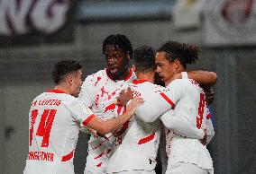
{"label": "rightmost player with tied-back curly hair and red number 9", "polygon": [[[185,117],[192,126],[208,130],[209,139],[214,135],[211,120],[206,109],[205,92],[197,82],[192,79],[177,79],[181,72],[186,72],[187,64],[195,63],[198,59],[199,48],[187,44],[169,41],[163,44],[156,54],[157,73],[167,86],[167,91],[161,97],[152,98],[151,102],[145,102],[136,111],[136,116],[145,122],[154,121],[161,109],[174,109],[176,116]],[[178,75],[177,75],[178,74]],[[186,73],[182,73],[183,75]],[[215,76],[215,75],[214,75]],[[216,76],[215,76],[216,79]],[[208,86],[206,86],[207,88]],[[157,101],[157,102],[156,102]],[[168,101],[168,103],[166,102]],[[165,106],[164,106],[165,103]],[[145,111],[152,111],[145,115]],[[171,113],[164,113],[160,119],[169,127]],[[213,173],[213,162],[204,144],[197,139],[167,132],[167,153],[169,155],[168,169],[166,173],[205,174]]]}

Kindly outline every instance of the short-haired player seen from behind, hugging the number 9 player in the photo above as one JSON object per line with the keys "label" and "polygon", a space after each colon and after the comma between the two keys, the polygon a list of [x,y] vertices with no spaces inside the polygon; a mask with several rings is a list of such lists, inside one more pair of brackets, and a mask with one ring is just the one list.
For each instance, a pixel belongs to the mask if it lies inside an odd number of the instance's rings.
{"label": "short-haired player seen from behind, hugging the number 9 player", "polygon": [[[147,46],[136,48],[133,52],[133,60],[133,70],[137,75],[137,80],[133,80],[133,83],[127,86],[132,89],[134,97],[140,96],[147,101],[158,96],[159,91],[165,91],[163,87],[153,84],[155,52],[152,48]],[[151,110],[147,110],[147,112],[151,112]],[[144,113],[145,117],[147,117],[146,115],[147,113]],[[183,117],[169,116],[169,118],[180,127],[175,130],[176,133],[197,139],[203,138],[204,131],[192,126]],[[122,143],[116,145],[111,153],[107,173],[155,173],[159,141],[159,119],[152,123],[144,123],[141,119],[133,117],[129,120],[128,128],[123,134]]]}

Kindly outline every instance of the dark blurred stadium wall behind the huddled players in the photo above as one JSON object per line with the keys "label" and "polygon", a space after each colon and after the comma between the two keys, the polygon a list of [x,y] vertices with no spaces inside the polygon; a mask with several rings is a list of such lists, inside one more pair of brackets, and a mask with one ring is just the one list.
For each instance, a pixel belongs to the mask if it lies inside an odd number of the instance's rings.
{"label": "dark blurred stadium wall behind the huddled players", "polygon": [[[250,1],[255,6],[256,1]],[[206,8],[199,13],[199,24],[180,29],[174,24],[179,19],[173,15],[177,1],[77,0],[70,1],[66,22],[59,30],[46,33],[33,27],[32,14],[28,13],[23,24],[30,30],[19,34],[12,24],[13,18],[1,13],[5,9],[3,2],[13,0],[0,1],[0,27],[9,22],[5,26],[12,31],[6,34],[0,29],[1,174],[23,172],[28,152],[30,103],[36,95],[53,87],[52,65],[63,58],[77,58],[84,65],[85,76],[95,73],[104,67],[103,39],[116,33],[131,39],[133,48],[142,44],[158,48],[169,39],[202,48],[200,61],[188,69],[215,71],[218,75],[213,104],[215,137],[208,146],[215,173],[255,173],[256,27],[253,22],[245,25],[248,16],[229,26],[237,30],[226,30],[219,20],[214,21],[215,16],[207,16],[209,8]],[[254,6],[249,13],[252,21],[256,21]],[[223,37],[219,43],[218,38],[212,41],[215,37],[206,27],[206,18],[214,22],[215,30]],[[80,134],[74,160],[76,174],[83,173],[86,156],[87,135]]]}

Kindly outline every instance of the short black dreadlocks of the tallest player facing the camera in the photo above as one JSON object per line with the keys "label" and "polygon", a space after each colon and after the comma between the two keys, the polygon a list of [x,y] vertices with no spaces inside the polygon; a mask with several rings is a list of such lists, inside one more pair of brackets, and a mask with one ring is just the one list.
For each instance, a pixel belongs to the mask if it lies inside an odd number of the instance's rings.
{"label": "short black dreadlocks of the tallest player facing the camera", "polygon": [[114,45],[114,48],[122,48],[125,55],[129,53],[130,58],[133,58],[133,46],[129,39],[123,34],[109,35],[102,45],[102,53],[105,54],[106,46]]}

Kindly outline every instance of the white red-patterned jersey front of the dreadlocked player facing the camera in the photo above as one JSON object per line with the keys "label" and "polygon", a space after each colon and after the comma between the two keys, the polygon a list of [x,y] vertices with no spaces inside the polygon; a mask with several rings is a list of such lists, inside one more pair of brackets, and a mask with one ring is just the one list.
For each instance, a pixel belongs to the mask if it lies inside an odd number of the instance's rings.
{"label": "white red-patterned jersey front of the dreadlocked player facing the camera", "polygon": [[[125,83],[136,79],[133,69],[124,80],[114,80],[107,69],[88,75],[82,85],[79,98],[87,102],[97,117],[110,119],[123,114],[125,109],[115,105],[116,97]],[[115,144],[114,135],[107,134],[107,139],[91,135],[88,142],[88,155],[85,173],[106,173],[109,154]],[[122,138],[122,137],[120,137]]]}

